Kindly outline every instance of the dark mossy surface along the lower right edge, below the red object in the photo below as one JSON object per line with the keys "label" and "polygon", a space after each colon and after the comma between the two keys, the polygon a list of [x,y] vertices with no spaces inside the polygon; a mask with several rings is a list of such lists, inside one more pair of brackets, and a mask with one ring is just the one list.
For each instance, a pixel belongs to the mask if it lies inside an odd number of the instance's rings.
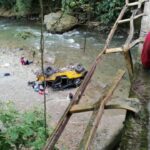
{"label": "dark mossy surface along the lower right edge, below the red object", "polygon": [[149,114],[147,106],[150,99],[149,73],[141,65],[137,64],[135,66],[130,96],[139,98],[141,110],[136,115],[127,114],[120,150],[148,150]]}

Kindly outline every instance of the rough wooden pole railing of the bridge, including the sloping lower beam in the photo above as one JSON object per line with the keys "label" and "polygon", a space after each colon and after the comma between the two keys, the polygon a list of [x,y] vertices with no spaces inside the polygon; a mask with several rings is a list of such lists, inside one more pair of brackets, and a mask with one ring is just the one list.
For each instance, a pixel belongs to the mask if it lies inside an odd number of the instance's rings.
{"label": "rough wooden pole railing of the bridge, including the sloping lower beam", "polygon": [[[82,150],[88,150],[90,149],[90,145],[93,142],[93,139],[95,137],[95,133],[97,130],[97,127],[100,123],[100,120],[102,118],[104,109],[106,108],[121,108],[121,109],[126,109],[128,111],[132,111],[134,113],[137,112],[137,110],[133,107],[130,107],[128,105],[112,105],[112,106],[107,106],[106,104],[108,101],[111,100],[111,96],[113,95],[113,92],[119,85],[121,79],[123,78],[125,71],[124,70],[119,70],[116,73],[116,77],[112,79],[112,84],[109,86],[109,88],[105,91],[105,94],[99,98],[99,100],[94,103],[94,104],[80,104],[80,99],[83,96],[95,70],[96,67],[101,60],[103,55],[109,54],[109,53],[116,53],[120,52],[124,55],[125,62],[126,62],[126,67],[128,70],[128,74],[130,77],[130,80],[132,80],[133,77],[133,62],[132,62],[132,57],[131,57],[131,52],[130,50],[140,42],[143,42],[142,38],[138,38],[133,40],[134,37],[134,21],[144,15],[144,13],[141,13],[141,7],[145,3],[146,0],[138,0],[137,2],[129,3],[128,0],[125,1],[125,5],[122,8],[116,22],[114,23],[108,38],[106,40],[105,46],[103,50],[101,50],[100,54],[97,56],[95,61],[93,62],[90,70],[88,71],[88,74],[86,75],[84,81],[82,82],[81,86],[78,88],[77,92],[73,96],[73,100],[70,101],[70,104],[68,105],[67,109],[65,110],[64,114],[62,115],[61,119],[59,120],[55,130],[53,131],[52,135],[47,140],[47,143],[43,150],[52,150],[54,149],[55,144],[57,143],[59,137],[61,136],[61,133],[65,129],[69,119],[71,118],[72,114],[74,113],[80,113],[80,112],[86,112],[86,111],[93,111],[92,116],[90,118],[90,121],[87,125],[87,128],[85,130],[84,136],[80,142],[79,149]],[[129,7],[133,7],[134,10],[132,11],[132,15],[130,18],[123,19],[127,9]],[[136,8],[136,9],[135,9]],[[109,48],[110,42],[114,36],[114,33],[117,30],[118,25],[123,24],[123,23],[129,23],[130,24],[130,32],[129,36],[127,37],[124,45],[116,48]]]}

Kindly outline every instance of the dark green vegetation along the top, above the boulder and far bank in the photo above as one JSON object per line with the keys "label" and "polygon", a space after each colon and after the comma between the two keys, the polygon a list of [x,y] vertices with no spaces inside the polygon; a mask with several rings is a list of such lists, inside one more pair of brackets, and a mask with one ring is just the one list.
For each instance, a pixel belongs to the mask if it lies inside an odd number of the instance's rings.
{"label": "dark green vegetation along the top, above the boulder and far bank", "polygon": [[[124,0],[43,0],[45,13],[63,10],[80,20],[88,18],[100,21],[103,24],[111,23],[118,16]],[[19,16],[40,13],[39,1],[37,0],[0,0],[0,7],[12,9]]]}

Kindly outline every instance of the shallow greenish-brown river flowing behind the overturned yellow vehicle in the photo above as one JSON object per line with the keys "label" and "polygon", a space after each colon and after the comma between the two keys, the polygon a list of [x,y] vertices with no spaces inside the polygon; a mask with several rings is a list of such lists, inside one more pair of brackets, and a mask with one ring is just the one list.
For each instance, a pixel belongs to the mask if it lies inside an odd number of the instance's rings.
{"label": "shallow greenish-brown river flowing behind the overturned yellow vehicle", "polygon": [[[30,32],[33,36],[23,39],[17,35],[22,32]],[[87,32],[86,50],[83,52],[85,31],[74,29],[64,34],[51,34],[44,32],[45,51],[49,56],[55,57],[55,66],[63,67],[68,64],[81,63],[86,68],[91,66],[95,57],[104,46],[107,35],[96,32]],[[124,36],[115,36],[111,47],[118,47],[124,43]],[[1,47],[34,49],[37,52],[40,47],[40,25],[26,21],[0,19],[0,44]],[[94,75],[95,81],[105,86],[106,81],[111,81],[118,69],[125,68],[124,58],[121,54],[109,54],[104,56]],[[128,75],[123,79],[121,93],[128,96]]]}

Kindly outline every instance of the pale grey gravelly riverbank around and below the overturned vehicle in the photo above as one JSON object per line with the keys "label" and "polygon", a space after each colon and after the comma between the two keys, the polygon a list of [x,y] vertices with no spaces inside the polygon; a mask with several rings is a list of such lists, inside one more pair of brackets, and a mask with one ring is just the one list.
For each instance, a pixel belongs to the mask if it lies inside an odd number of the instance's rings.
{"label": "pale grey gravelly riverbank around and below the overturned vehicle", "polygon": [[[11,100],[15,103],[19,111],[27,111],[35,106],[43,105],[43,96],[34,92],[32,87],[27,85],[28,81],[35,80],[34,72],[39,69],[38,64],[22,66],[19,63],[21,56],[32,59],[31,53],[27,50],[14,48],[0,48],[0,74],[10,73],[10,76],[0,77],[0,100]],[[69,92],[75,93],[77,89],[67,89],[63,91],[53,91],[48,89],[47,113],[51,116],[50,125],[55,127],[65,108],[69,104],[67,96]],[[123,87],[120,87],[120,91]],[[103,87],[91,83],[81,102],[96,101],[102,95]],[[117,97],[117,96],[115,96]],[[114,97],[114,98],[115,98]],[[123,126],[125,118],[123,110],[106,110],[98,128],[94,149],[104,149],[106,145],[115,137]],[[58,147],[60,149],[74,150],[77,148],[82,138],[91,112],[75,114],[72,116],[66,130],[63,132]]]}

